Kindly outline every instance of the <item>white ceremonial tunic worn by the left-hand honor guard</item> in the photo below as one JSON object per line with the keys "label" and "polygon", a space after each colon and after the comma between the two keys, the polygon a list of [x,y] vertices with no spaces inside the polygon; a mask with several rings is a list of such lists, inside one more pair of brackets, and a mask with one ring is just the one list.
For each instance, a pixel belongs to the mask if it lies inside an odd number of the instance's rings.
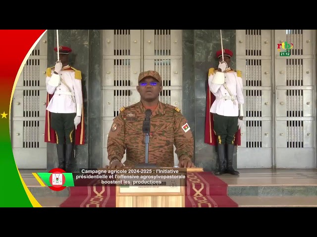
{"label": "white ceremonial tunic worn by the left-hand honor guard", "polygon": [[[64,83],[60,80],[58,86],[52,86],[48,84],[51,77],[46,78],[46,89],[49,94],[54,94],[47,110],[52,113],[76,113],[76,116],[81,116],[83,106],[82,85],[80,79],[75,79],[75,71],[67,70],[70,66],[63,67],[63,70],[59,72],[59,75]],[[52,75],[54,70],[52,69]]]}

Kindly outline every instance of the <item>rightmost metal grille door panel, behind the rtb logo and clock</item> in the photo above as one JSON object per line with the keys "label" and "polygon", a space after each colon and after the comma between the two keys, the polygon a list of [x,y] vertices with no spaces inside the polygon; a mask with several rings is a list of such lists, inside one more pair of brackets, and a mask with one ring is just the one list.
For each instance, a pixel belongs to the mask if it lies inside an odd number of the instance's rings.
{"label": "rightmost metal grille door panel, behind the rtb logo and clock", "polygon": [[274,34],[276,168],[316,168],[315,30]]}

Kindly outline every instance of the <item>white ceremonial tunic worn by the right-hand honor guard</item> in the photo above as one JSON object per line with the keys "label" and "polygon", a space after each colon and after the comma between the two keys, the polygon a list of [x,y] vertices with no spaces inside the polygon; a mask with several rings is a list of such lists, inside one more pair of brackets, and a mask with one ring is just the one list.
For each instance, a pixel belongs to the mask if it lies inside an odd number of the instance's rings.
{"label": "white ceremonial tunic worn by the right-hand honor guard", "polygon": [[226,90],[223,84],[220,85],[211,82],[217,72],[217,70],[215,70],[215,73],[210,75],[208,78],[210,91],[215,96],[215,100],[211,105],[210,112],[222,116],[235,117],[239,116],[238,104],[244,104],[243,82],[242,78],[237,76],[237,72],[232,70],[231,72],[228,71],[230,71],[230,68],[224,72],[224,81],[234,96],[234,101],[236,101],[236,104],[234,104],[231,100],[230,93]]}

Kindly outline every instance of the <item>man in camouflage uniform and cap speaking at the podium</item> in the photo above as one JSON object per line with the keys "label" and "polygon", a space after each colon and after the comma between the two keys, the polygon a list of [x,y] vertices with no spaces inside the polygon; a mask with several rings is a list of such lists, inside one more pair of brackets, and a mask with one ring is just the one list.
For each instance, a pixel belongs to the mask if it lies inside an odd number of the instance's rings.
{"label": "man in camouflage uniform and cap speaking at the podium", "polygon": [[137,90],[141,101],[120,109],[113,119],[107,141],[108,168],[123,166],[121,159],[127,153],[124,163],[133,167],[145,161],[145,133],[142,131],[145,111],[151,109],[151,131],[149,142],[149,163],[159,167],[174,166],[175,153],[179,167],[195,167],[191,159],[194,153],[194,139],[186,118],[174,106],[159,102],[162,90],[161,77],[156,71],[139,75]]}

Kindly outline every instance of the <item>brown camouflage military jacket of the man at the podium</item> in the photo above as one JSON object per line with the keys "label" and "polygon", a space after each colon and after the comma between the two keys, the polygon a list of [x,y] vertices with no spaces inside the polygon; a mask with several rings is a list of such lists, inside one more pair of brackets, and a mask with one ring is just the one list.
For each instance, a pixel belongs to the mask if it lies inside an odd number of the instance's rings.
{"label": "brown camouflage military jacket of the man at the podium", "polygon": [[[142,131],[145,108],[136,103],[121,108],[120,114],[113,119],[108,135],[108,159],[120,161],[127,153],[124,165],[133,167],[145,162],[145,133]],[[159,102],[152,112],[149,142],[149,163],[161,167],[174,165],[174,150],[179,160],[191,159],[194,152],[194,139],[186,118],[179,109]]]}

